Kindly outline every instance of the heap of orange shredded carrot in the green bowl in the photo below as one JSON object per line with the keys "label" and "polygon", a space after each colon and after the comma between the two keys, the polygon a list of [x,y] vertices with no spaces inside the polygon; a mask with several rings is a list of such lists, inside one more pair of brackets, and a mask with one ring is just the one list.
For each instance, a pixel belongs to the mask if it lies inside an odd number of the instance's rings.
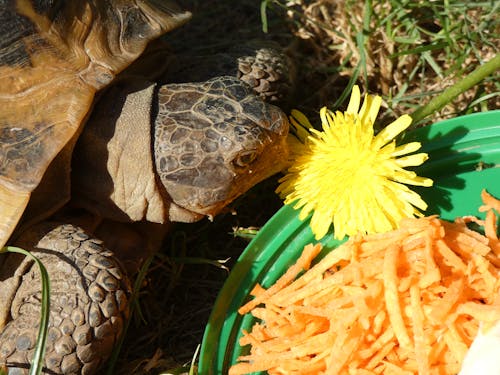
{"label": "heap of orange shredded carrot in the green bowl", "polygon": [[239,309],[256,323],[240,339],[249,354],[229,374],[458,373],[479,327],[500,321],[500,200],[481,197],[484,220],[405,219],[316,264],[321,246],[307,245]]}

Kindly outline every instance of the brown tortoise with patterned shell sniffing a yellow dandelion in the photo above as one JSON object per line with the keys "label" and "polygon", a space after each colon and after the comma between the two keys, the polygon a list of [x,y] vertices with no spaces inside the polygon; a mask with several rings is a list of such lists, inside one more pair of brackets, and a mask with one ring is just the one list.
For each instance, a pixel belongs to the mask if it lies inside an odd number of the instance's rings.
{"label": "brown tortoise with patterned shell sniffing a yellow dandelion", "polygon": [[[48,269],[44,371],[98,373],[129,314],[128,276],[170,223],[212,218],[282,170],[287,118],[262,100],[275,94],[245,59],[240,75],[257,90],[230,75],[147,76],[165,56],[162,43],[144,53],[148,43],[191,16],[170,1],[2,5],[0,247],[23,247]],[[150,57],[143,68],[120,73],[141,54]],[[0,257],[0,366],[9,374],[25,373],[32,358],[39,281],[32,261]]]}

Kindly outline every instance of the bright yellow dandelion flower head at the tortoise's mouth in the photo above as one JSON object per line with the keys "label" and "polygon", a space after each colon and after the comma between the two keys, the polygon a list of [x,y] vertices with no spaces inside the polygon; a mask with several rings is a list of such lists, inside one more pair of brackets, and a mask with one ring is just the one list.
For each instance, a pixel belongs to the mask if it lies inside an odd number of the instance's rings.
{"label": "bright yellow dandelion flower head at the tortoise's mouth", "polygon": [[[354,86],[344,113],[321,109],[322,132],[306,124],[310,134],[303,137],[301,153],[281,178],[277,192],[285,204],[301,209],[301,220],[313,212],[311,229],[316,239],[332,223],[339,239],[388,231],[405,217],[422,216],[421,210],[427,208],[406,185],[431,186],[432,180],[405,167],[418,166],[428,156],[413,154],[420,149],[419,142],[396,146],[395,137],[412,121],[408,115],[374,134],[381,101],[379,96],[367,95],[360,109],[360,91]],[[296,118],[301,121],[305,116]]]}

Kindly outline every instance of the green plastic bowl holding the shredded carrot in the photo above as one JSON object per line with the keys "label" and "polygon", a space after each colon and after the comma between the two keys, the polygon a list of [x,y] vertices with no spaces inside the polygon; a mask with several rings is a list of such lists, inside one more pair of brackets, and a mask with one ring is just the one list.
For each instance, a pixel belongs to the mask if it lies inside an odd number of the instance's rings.
{"label": "green plastic bowl holding the shredded carrot", "polygon": [[[432,188],[418,192],[428,203],[426,214],[443,219],[479,215],[481,190],[500,197],[500,111],[477,113],[406,134],[404,141],[422,142],[429,160],[417,169],[434,180]],[[417,189],[415,189],[417,190]],[[200,352],[201,375],[227,374],[229,367],[248,347],[240,347],[242,329],[250,330],[255,319],[240,316],[238,308],[259,282],[272,285],[292,265],[304,246],[314,242],[308,220],[298,211],[281,208],[250,242],[220,291],[208,321]],[[331,235],[321,240],[324,252],[338,246]]]}

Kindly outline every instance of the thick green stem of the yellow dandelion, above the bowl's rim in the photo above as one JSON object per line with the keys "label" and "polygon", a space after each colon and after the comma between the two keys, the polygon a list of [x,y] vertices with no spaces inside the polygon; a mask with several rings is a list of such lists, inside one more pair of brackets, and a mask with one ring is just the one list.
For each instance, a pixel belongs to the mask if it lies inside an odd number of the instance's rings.
{"label": "thick green stem of the yellow dandelion, above the bowl's rim", "polygon": [[461,81],[455,83],[453,86],[448,87],[440,95],[432,98],[431,101],[426,105],[417,108],[417,110],[411,115],[413,124],[416,124],[430,114],[439,111],[446,104],[455,99],[458,95],[467,91],[499,69],[500,54],[496,55],[487,63],[477,67],[472,73],[467,75]]}

